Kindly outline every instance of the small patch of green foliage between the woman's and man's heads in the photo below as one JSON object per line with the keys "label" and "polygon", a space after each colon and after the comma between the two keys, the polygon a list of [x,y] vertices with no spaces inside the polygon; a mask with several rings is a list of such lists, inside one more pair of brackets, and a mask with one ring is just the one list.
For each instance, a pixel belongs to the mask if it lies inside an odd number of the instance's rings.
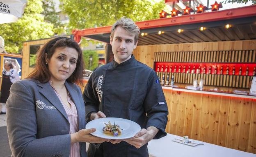
{"label": "small patch of green foliage between the woman's and man's heads", "polygon": [[[98,67],[98,54],[95,50],[84,50],[82,51],[83,60],[85,62],[85,69],[93,71]],[[91,66],[89,58],[92,57]]]}

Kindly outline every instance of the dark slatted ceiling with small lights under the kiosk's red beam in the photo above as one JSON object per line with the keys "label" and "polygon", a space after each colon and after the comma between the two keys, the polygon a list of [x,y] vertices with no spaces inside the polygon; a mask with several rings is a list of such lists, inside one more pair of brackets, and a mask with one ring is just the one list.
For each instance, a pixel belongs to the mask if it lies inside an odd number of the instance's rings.
{"label": "dark slatted ceiling with small lights under the kiosk's red beam", "polygon": [[[224,27],[226,24],[231,24],[231,28],[226,29]],[[206,29],[200,31],[200,27],[206,27]],[[183,29],[184,31],[178,33],[178,29]],[[164,31],[164,33],[158,35],[158,31]],[[141,30],[141,33],[142,32],[148,33],[148,35],[139,35],[138,45],[252,40],[256,39],[256,16],[143,29]],[[110,42],[110,33],[88,35],[84,37],[106,43]]]}

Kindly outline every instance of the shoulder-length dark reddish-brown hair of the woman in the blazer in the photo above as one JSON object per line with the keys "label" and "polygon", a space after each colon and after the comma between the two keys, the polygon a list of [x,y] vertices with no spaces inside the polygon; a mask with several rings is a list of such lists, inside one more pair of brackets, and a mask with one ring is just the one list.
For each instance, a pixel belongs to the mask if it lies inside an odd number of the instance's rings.
{"label": "shoulder-length dark reddish-brown hair of the woman in the blazer", "polygon": [[42,83],[50,81],[50,71],[48,69],[48,64],[46,64],[45,54],[47,53],[47,59],[50,58],[55,53],[55,50],[60,47],[70,47],[78,52],[78,60],[76,62],[75,71],[66,80],[67,82],[73,82],[82,86],[82,77],[84,73],[84,62],[82,60],[82,50],[75,40],[67,37],[58,37],[47,42],[39,51],[37,52],[36,67],[27,78],[33,78],[39,80]]}

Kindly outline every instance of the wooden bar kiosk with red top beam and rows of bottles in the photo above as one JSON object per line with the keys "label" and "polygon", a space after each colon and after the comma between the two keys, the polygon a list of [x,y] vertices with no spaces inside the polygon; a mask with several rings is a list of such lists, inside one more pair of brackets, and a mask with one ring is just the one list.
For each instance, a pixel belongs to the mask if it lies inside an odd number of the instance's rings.
{"label": "wooden bar kiosk with red top beam and rows of bottles", "polygon": [[[164,82],[167,132],[256,153],[256,96],[239,93],[249,91],[256,66],[256,5],[136,24],[142,34],[133,54]],[[109,43],[110,29],[73,35],[77,42],[83,36]],[[186,88],[201,79],[201,90]]]}

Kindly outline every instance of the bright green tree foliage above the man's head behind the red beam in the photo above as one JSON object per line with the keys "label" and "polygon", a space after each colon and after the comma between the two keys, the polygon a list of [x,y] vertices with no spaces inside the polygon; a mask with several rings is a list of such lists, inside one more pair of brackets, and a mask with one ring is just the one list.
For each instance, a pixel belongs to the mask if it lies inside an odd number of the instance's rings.
{"label": "bright green tree foliage above the man's head behind the red beam", "polygon": [[[69,15],[69,28],[85,29],[112,25],[123,16],[134,21],[158,19],[164,0],[61,0]],[[75,9],[74,9],[75,8]]]}

